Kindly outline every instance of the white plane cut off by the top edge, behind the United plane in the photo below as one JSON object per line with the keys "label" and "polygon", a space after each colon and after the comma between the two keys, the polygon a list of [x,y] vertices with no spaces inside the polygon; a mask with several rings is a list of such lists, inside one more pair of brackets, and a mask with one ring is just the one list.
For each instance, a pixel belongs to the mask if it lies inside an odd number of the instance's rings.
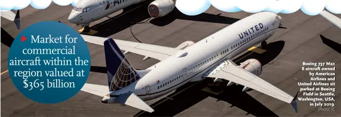
{"label": "white plane cut off by the top edge, behind the United plane", "polygon": [[[80,0],[70,13],[70,23],[85,26],[84,31],[90,31],[89,24],[131,5],[146,0]],[[175,8],[175,0],[156,0],[149,4],[148,13],[151,17],[163,17]]]}

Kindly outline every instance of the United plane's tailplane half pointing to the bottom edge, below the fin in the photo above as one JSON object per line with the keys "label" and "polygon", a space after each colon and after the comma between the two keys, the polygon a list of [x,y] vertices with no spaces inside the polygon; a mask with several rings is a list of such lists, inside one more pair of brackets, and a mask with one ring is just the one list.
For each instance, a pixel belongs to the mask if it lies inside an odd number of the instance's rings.
{"label": "United plane's tailplane half pointing to the bottom edge, below the fin", "polygon": [[146,102],[141,100],[132,92],[122,94],[115,100],[119,103],[126,104],[126,105],[129,105],[129,106],[141,109],[141,110],[145,110],[148,112],[154,111],[152,107],[150,107]]}

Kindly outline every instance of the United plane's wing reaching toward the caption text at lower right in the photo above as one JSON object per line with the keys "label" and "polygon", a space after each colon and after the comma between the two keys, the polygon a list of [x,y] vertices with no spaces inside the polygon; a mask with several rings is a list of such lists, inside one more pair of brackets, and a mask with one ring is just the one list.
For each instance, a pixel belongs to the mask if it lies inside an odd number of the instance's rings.
{"label": "United plane's wing reaching toward the caption text at lower right", "polygon": [[[287,103],[291,103],[294,106],[295,111],[297,112],[297,102],[296,97],[292,97],[291,95],[287,94],[286,92],[276,88],[275,86],[271,85],[270,83],[262,80],[257,75],[254,75],[247,70],[240,68],[231,60],[226,60],[221,62],[217,65],[217,67],[213,68],[212,70],[206,72],[204,77],[214,77],[217,79],[224,79],[230,81],[231,83],[236,83],[245,86],[245,89],[251,88],[277,98],[279,100],[285,101]],[[228,85],[229,85],[228,84]]]}

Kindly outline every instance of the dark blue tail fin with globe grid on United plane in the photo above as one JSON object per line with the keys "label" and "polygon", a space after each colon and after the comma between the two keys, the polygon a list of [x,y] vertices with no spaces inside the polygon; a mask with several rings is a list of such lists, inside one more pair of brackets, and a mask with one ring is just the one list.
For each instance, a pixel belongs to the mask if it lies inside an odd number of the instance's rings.
{"label": "dark blue tail fin with globe grid on United plane", "polygon": [[112,38],[104,41],[104,53],[110,92],[127,87],[141,78]]}

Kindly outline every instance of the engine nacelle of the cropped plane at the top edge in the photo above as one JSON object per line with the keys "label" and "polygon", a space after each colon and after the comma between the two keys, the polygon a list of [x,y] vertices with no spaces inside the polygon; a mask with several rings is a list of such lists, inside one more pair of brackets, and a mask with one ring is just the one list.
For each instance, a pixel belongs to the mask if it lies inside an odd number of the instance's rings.
{"label": "engine nacelle of the cropped plane at the top edge", "polygon": [[163,17],[171,13],[175,8],[173,0],[156,0],[149,4],[148,13],[151,17]]}

